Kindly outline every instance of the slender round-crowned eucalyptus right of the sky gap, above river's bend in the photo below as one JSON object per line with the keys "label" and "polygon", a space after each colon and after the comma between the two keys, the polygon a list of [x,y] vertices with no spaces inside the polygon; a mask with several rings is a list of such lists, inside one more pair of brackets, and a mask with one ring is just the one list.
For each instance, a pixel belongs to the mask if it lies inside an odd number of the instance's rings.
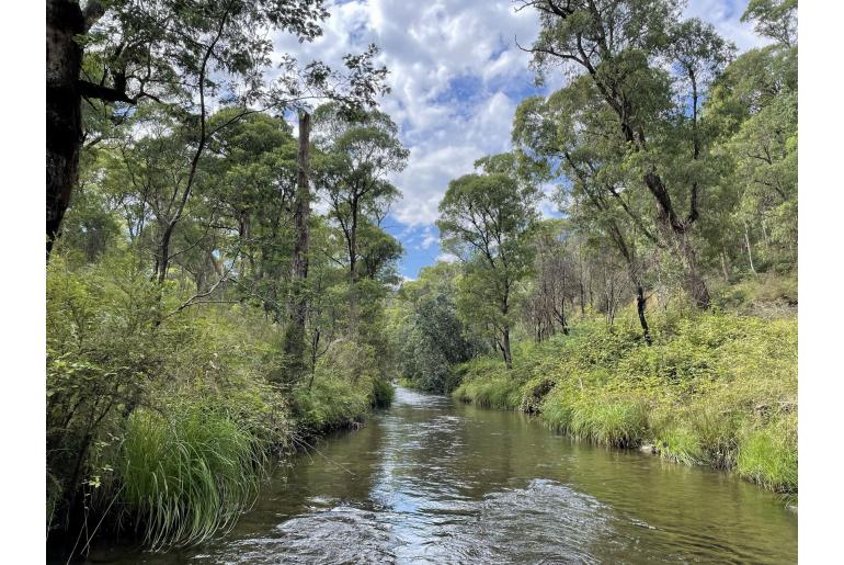
{"label": "slender round-crowned eucalyptus right of the sky gap, above river's bend", "polygon": [[513,366],[510,332],[513,293],[531,271],[529,233],[537,218],[538,191],[514,177],[512,156],[476,162],[495,172],[465,174],[448,183],[440,203],[442,246],[464,262],[464,313],[492,328],[507,368]]}

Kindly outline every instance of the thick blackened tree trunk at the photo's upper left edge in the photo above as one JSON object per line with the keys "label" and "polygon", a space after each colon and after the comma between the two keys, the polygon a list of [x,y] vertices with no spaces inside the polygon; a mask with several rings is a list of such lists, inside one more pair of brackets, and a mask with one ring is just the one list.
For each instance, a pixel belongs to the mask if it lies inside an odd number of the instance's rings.
{"label": "thick blackened tree trunk at the photo's upper left edge", "polygon": [[82,48],[75,37],[84,24],[77,2],[47,0],[47,259],[79,172]]}

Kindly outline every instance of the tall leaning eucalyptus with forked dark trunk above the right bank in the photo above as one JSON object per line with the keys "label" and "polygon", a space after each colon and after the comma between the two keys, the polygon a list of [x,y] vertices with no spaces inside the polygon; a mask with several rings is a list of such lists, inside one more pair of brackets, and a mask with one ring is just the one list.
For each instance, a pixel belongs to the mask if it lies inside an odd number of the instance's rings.
{"label": "tall leaning eucalyptus with forked dark trunk above the right bank", "polygon": [[526,49],[537,79],[562,67],[592,84],[624,148],[624,167],[657,210],[660,238],[683,263],[686,291],[708,307],[692,237],[709,181],[700,163],[700,104],[731,46],[704,24],[681,22],[680,3],[671,0],[523,0],[522,8],[539,14],[539,36]]}

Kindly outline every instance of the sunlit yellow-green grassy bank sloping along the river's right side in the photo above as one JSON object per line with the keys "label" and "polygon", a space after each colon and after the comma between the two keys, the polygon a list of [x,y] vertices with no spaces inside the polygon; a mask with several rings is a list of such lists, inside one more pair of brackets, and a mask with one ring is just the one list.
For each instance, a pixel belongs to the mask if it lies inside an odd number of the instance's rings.
{"label": "sunlit yellow-green grassy bank sloping along the river's right side", "polygon": [[458,365],[454,395],[540,414],[552,429],[595,443],[653,445],[660,456],[734,471],[797,491],[797,320],[735,314],[651,315],[648,347],[635,326],[584,320],[568,337],[523,343]]}

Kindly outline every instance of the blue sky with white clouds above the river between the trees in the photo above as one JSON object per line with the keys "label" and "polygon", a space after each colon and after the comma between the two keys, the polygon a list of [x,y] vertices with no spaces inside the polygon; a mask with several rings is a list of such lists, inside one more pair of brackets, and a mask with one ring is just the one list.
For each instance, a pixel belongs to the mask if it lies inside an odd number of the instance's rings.
{"label": "blue sky with white clouds above the river between the trees", "polygon": [[[746,1],[689,0],[685,15],[710,22],[743,52],[763,43],[739,21]],[[407,168],[391,179],[402,197],[384,223],[404,247],[400,272],[406,279],[445,258],[434,222],[448,181],[471,172],[476,159],[510,149],[521,100],[562,86],[556,77],[543,89],[534,86],[529,55],[515,41],[532,44],[538,22],[533,11],[516,12],[516,5],[512,0],[338,0],[315,42],[275,38],[280,53],[334,67],[346,53],[361,53],[372,43],[380,48],[378,60],[390,71],[391,89],[380,109],[399,125],[410,149]],[[548,200],[540,212],[558,215]]]}

